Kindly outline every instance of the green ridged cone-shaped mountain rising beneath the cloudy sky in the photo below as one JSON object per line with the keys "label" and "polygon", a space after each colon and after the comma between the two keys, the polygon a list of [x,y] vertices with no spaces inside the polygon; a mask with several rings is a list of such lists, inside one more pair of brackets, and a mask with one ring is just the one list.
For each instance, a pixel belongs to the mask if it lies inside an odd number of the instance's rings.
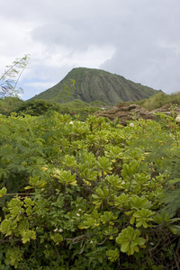
{"label": "green ridged cone-shaped mountain rising beneath the cloudy sky", "polygon": [[[71,80],[76,81],[75,87],[72,86]],[[159,92],[161,90],[136,84],[123,76],[101,69],[77,67],[73,68],[57,85],[31,99],[53,100],[59,103],[79,99],[85,103],[101,101],[112,105],[138,101]]]}

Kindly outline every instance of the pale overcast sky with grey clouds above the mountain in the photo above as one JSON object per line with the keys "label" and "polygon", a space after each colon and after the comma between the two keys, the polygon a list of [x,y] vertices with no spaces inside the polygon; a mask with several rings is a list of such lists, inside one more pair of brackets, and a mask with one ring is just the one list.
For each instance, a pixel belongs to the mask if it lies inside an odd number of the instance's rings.
{"label": "pale overcast sky with grey clouds above the mountain", "polygon": [[0,73],[30,54],[23,100],[74,67],[180,91],[179,0],[0,0]]}

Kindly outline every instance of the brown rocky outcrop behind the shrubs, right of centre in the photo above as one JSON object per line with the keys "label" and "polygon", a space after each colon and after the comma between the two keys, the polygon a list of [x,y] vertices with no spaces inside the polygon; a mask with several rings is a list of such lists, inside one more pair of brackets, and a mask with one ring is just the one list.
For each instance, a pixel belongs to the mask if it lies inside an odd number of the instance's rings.
{"label": "brown rocky outcrop behind the shrubs, right of centre", "polygon": [[[127,121],[133,121],[134,118],[136,119],[145,119],[145,120],[157,120],[157,115],[155,112],[163,112],[166,115],[171,115],[170,106],[163,106],[153,111],[148,111],[143,106],[139,106],[137,104],[130,104],[129,106],[124,107],[112,107],[110,110],[101,111],[101,112],[94,112],[94,115],[97,117],[103,116],[109,118],[111,121],[114,121],[116,118],[119,118],[121,121],[121,125],[127,125]],[[175,113],[178,114],[180,112],[180,107],[175,109]]]}

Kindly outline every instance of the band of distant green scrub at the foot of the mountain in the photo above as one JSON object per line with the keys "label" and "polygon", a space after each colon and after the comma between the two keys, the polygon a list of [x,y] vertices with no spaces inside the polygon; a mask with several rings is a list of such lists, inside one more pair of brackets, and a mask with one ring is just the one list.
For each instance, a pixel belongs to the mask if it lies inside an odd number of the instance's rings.
{"label": "band of distant green scrub at the foot of the mountain", "polygon": [[[180,106],[180,93],[164,94],[159,93],[148,99],[143,99],[138,102],[121,102],[117,105],[120,107],[137,103],[149,111],[155,110],[162,106],[170,107],[171,105]],[[111,108],[106,103],[94,101],[93,103],[85,103],[81,100],[73,100],[72,102],[56,103],[53,100],[30,100],[23,101],[18,97],[7,96],[0,99],[0,113],[9,116],[12,112],[22,114],[30,114],[31,116],[40,116],[48,111],[55,111],[61,114],[69,114],[73,119],[78,118],[80,121],[85,121],[89,114],[100,111],[102,108]]]}

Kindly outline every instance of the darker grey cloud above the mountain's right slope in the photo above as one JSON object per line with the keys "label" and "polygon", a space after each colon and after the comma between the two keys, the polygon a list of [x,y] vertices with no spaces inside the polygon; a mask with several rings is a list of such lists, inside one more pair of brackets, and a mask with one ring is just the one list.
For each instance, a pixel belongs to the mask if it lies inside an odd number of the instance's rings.
{"label": "darker grey cloud above the mountain's right slope", "polygon": [[154,46],[147,47],[147,51],[144,47],[131,49],[125,54],[117,50],[101,68],[169,94],[180,90],[179,64],[180,55],[174,49]]}

